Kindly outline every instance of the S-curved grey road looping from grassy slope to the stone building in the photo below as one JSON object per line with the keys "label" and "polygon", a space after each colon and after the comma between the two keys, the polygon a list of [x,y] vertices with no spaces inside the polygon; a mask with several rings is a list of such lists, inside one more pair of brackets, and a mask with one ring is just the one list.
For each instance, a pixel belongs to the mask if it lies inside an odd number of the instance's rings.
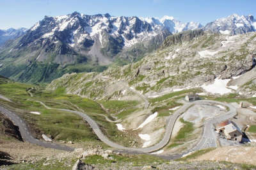
{"label": "S-curved grey road looping from grassy slope to the stone building", "polygon": [[[40,101],[37,101],[37,102],[40,102]],[[44,107],[46,107],[47,109],[54,109],[51,107],[47,107],[47,105],[45,105],[42,102],[40,102],[40,104],[44,105]],[[150,146],[148,148],[128,148],[128,147],[122,146],[120,144],[113,143],[113,141],[110,141],[108,139],[108,137],[106,137],[106,135],[104,135],[102,133],[102,131],[99,128],[99,125],[97,125],[97,123],[94,120],[92,120],[92,118],[90,118],[87,114],[84,114],[83,112],[79,112],[79,111],[70,111],[68,109],[56,109],[56,110],[72,112],[72,113],[75,113],[75,114],[81,116],[85,121],[87,121],[89,123],[90,127],[93,129],[93,132],[95,132],[97,137],[99,137],[100,141],[108,144],[112,148],[116,148],[118,150],[124,150],[124,151],[127,151],[128,153],[151,153],[151,152],[160,150],[161,148],[166,146],[166,144],[168,144],[168,142],[170,141],[170,137],[172,136],[172,130],[173,130],[173,127],[175,125],[177,118],[179,118],[179,116],[181,114],[186,112],[189,109],[189,107],[191,107],[192,105],[195,105],[195,104],[218,104],[218,105],[224,105],[225,107],[229,108],[229,111],[226,112],[225,114],[221,114],[220,116],[217,116],[216,118],[212,118],[211,120],[205,122],[204,133],[202,135],[202,138],[199,141],[199,143],[196,144],[196,146],[195,146],[195,148],[193,148],[193,150],[200,150],[203,148],[216,147],[217,146],[216,138],[214,139],[215,135],[214,135],[214,132],[212,131],[212,128],[213,128],[212,124],[219,123],[221,121],[232,118],[233,116],[236,115],[236,109],[234,107],[232,107],[232,105],[223,104],[221,102],[216,102],[214,100],[198,100],[195,102],[184,104],[182,107],[180,107],[177,111],[174,112],[174,114],[172,114],[168,118],[168,123],[166,125],[166,131],[164,133],[163,139],[161,139],[161,141],[159,143],[155,144],[154,146]],[[211,145],[207,145],[209,143]]]}

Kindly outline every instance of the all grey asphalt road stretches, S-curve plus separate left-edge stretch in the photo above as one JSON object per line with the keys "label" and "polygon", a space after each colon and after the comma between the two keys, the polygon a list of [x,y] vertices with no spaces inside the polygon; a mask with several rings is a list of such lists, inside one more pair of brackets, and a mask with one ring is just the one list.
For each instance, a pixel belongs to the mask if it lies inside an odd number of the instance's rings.
{"label": "all grey asphalt road stretches, S-curve plus separate left-edge stretch", "polygon": [[[36,101],[36,102],[40,102],[40,101]],[[228,109],[229,109],[229,111],[226,112],[225,114],[221,114],[220,116],[211,118],[211,120],[205,121],[204,132],[202,134],[200,141],[193,148],[194,151],[201,150],[204,148],[216,147],[217,146],[216,145],[216,135],[214,134],[214,132],[212,130],[213,124],[230,119],[236,115],[236,109],[234,107],[232,107],[232,105],[224,104],[221,102],[216,102],[214,100],[198,100],[195,102],[186,103],[186,104],[182,105],[182,107],[180,107],[177,111],[175,111],[168,118],[168,122],[166,125],[166,130],[164,132],[163,139],[161,139],[161,141],[159,143],[155,144],[154,146],[150,146],[148,148],[128,148],[128,147],[122,146],[120,144],[114,143],[113,141],[109,140],[108,137],[106,137],[106,135],[104,135],[103,132],[100,130],[99,125],[84,112],[71,111],[68,109],[55,109],[55,108],[48,107],[43,102],[40,102],[40,104],[44,105],[44,107],[47,109],[72,112],[74,114],[81,116],[85,121],[88,122],[88,124],[92,128],[93,132],[95,132],[97,137],[99,137],[100,141],[108,144],[112,148],[116,148],[120,151],[125,151],[126,153],[152,153],[152,152],[160,150],[161,148],[166,146],[166,144],[168,144],[168,142],[170,141],[170,137],[172,136],[172,130],[173,130],[173,127],[175,125],[177,118],[179,118],[179,116],[181,114],[186,112],[189,109],[189,107],[191,107],[192,105],[195,105],[195,104],[218,104],[218,105],[223,105],[225,107],[228,107]],[[29,143],[38,144],[40,146],[44,146],[46,148],[54,148],[54,149],[58,149],[58,150],[67,150],[67,151],[74,150],[74,148],[69,148],[68,146],[61,146],[61,145],[54,144],[54,143],[46,143],[46,142],[39,141],[38,139],[35,139],[29,133],[29,130],[26,127],[26,124],[24,123],[24,121],[22,121],[19,118],[19,116],[17,116],[17,114],[15,114],[12,111],[8,111],[8,109],[4,109],[4,107],[2,107],[2,106],[0,106],[0,111],[3,112],[3,114],[6,115],[8,118],[10,118],[10,120],[12,120],[15,125],[19,126],[20,134],[22,135],[22,138],[25,141],[28,141]],[[181,157],[182,155],[184,155],[188,152],[189,151],[186,151],[185,153],[182,153],[180,155],[172,155],[172,157]]]}

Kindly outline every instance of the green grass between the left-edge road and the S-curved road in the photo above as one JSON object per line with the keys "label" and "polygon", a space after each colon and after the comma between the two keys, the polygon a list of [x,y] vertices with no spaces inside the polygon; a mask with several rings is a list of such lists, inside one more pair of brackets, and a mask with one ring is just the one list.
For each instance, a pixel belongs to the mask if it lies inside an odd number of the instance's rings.
{"label": "green grass between the left-edge road and the S-curved road", "polygon": [[[22,109],[18,112],[30,125],[38,128],[42,133],[52,135],[56,139],[65,141],[86,141],[96,139],[92,130],[86,123],[76,114],[70,114],[61,111],[51,111],[45,109],[38,102],[33,100],[41,100],[51,107],[61,105],[61,107],[70,109],[64,104],[58,104],[57,101],[46,97],[48,93],[42,93],[35,98],[29,97],[26,89],[31,87],[30,84],[10,83],[0,84],[0,93],[10,98],[14,103],[8,104],[10,107]],[[54,93],[51,93],[55,95]],[[5,105],[7,105],[5,103]],[[30,111],[41,112],[40,115],[30,114]]]}

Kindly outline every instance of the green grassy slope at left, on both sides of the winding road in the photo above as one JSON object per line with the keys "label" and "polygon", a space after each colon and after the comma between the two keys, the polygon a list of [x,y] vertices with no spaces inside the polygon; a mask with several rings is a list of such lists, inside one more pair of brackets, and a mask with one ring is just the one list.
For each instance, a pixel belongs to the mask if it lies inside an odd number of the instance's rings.
{"label": "green grassy slope at left, on both sides of the winding road", "polygon": [[[105,114],[109,116],[97,102],[76,95],[67,95],[63,88],[58,88],[56,91],[45,91],[40,89],[40,87],[36,87],[37,90],[34,91],[33,98],[31,98],[26,91],[31,87],[33,85],[19,82],[0,84],[0,94],[13,101],[13,103],[1,101],[1,104],[15,108],[16,110],[19,109],[17,112],[31,127],[39,130],[41,133],[52,135],[55,139],[65,141],[95,141],[97,136],[93,134],[92,129],[81,117],[69,112],[45,109],[45,107],[35,102],[35,100],[40,100],[49,105],[49,107],[72,110],[77,109],[74,106],[76,104],[86,114],[91,116],[93,120],[97,121],[102,131],[111,140],[127,144],[126,138],[120,137],[122,132],[117,130],[115,123],[109,123],[103,116],[97,115]],[[30,111],[38,111],[41,114],[30,114]],[[128,139],[129,137],[127,137]]]}

